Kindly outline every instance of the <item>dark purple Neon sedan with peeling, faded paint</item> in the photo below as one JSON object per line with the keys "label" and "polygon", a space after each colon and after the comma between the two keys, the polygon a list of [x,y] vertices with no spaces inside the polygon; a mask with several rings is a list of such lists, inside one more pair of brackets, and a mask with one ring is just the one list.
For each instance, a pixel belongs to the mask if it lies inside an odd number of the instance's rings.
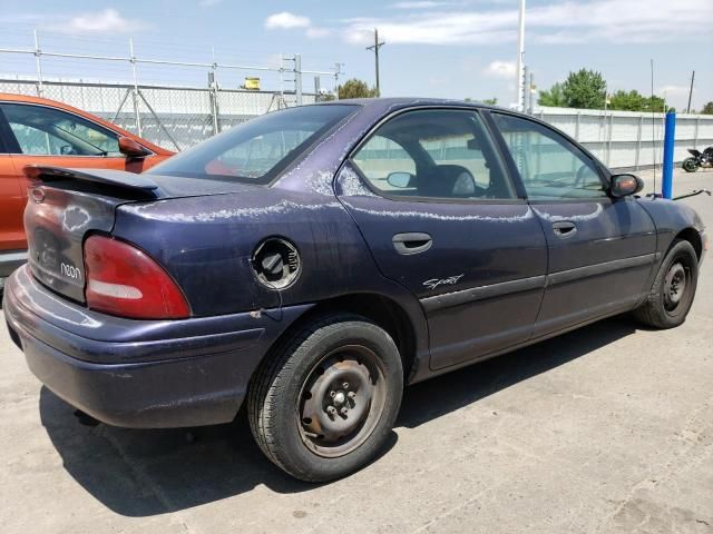
{"label": "dark purple Neon sedan with peeling, faded paint", "polygon": [[[707,240],[531,117],[339,101],[152,169],[27,169],[10,335],[101,422],[232,421],[305,481],[372,459],[403,386],[634,312],[685,320]],[[448,392],[443,392],[448,395]]]}

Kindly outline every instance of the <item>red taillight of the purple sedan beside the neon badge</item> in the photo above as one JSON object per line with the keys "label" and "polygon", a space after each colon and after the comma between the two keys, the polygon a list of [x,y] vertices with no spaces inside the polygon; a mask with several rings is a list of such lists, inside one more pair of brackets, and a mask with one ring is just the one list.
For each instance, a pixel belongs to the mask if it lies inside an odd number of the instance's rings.
{"label": "red taillight of the purple sedan beside the neon badge", "polygon": [[134,319],[183,319],[191,309],[160,265],[131,245],[105,236],[85,241],[87,306]]}

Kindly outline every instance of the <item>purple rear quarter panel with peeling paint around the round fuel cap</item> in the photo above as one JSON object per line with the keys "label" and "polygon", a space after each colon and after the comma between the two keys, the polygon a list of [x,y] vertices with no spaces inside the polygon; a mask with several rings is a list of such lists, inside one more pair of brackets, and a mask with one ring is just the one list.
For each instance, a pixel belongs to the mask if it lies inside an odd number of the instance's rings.
{"label": "purple rear quarter panel with peeling paint around the round fuel cap", "polygon": [[[316,303],[353,293],[378,293],[422,320],[418,300],[381,276],[361,234],[334,196],[255,188],[117,209],[114,235],[156,258],[180,285],[193,314]],[[302,271],[280,294],[260,284],[251,268],[267,237],[293,243]]]}

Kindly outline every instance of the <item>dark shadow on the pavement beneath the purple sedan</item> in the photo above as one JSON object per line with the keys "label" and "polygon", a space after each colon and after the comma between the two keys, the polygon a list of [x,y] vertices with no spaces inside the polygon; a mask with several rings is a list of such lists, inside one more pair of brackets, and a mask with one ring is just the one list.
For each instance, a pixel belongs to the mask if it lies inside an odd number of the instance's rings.
{"label": "dark shadow on the pavement beneath the purple sedan", "polygon": [[[635,332],[629,319],[608,319],[411,386],[406,390],[397,428],[428,423]],[[315,487],[294,481],[263,457],[244,412],[231,424],[193,429],[82,426],[74,408],[45,387],[39,409],[65,469],[95,498],[121,515],[185,510],[261,484],[277,493]],[[391,433],[382,455],[397,441],[397,434]]]}

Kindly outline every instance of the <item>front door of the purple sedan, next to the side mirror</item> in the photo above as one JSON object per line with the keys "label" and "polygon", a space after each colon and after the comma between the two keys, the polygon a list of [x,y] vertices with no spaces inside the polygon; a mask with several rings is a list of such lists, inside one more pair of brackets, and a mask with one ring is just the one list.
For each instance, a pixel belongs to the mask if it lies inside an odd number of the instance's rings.
{"label": "front door of the purple sedan, next to the side mirror", "polygon": [[548,126],[494,112],[547,238],[547,289],[535,336],[631,309],[655,263],[653,220],[612,198],[600,164]]}

